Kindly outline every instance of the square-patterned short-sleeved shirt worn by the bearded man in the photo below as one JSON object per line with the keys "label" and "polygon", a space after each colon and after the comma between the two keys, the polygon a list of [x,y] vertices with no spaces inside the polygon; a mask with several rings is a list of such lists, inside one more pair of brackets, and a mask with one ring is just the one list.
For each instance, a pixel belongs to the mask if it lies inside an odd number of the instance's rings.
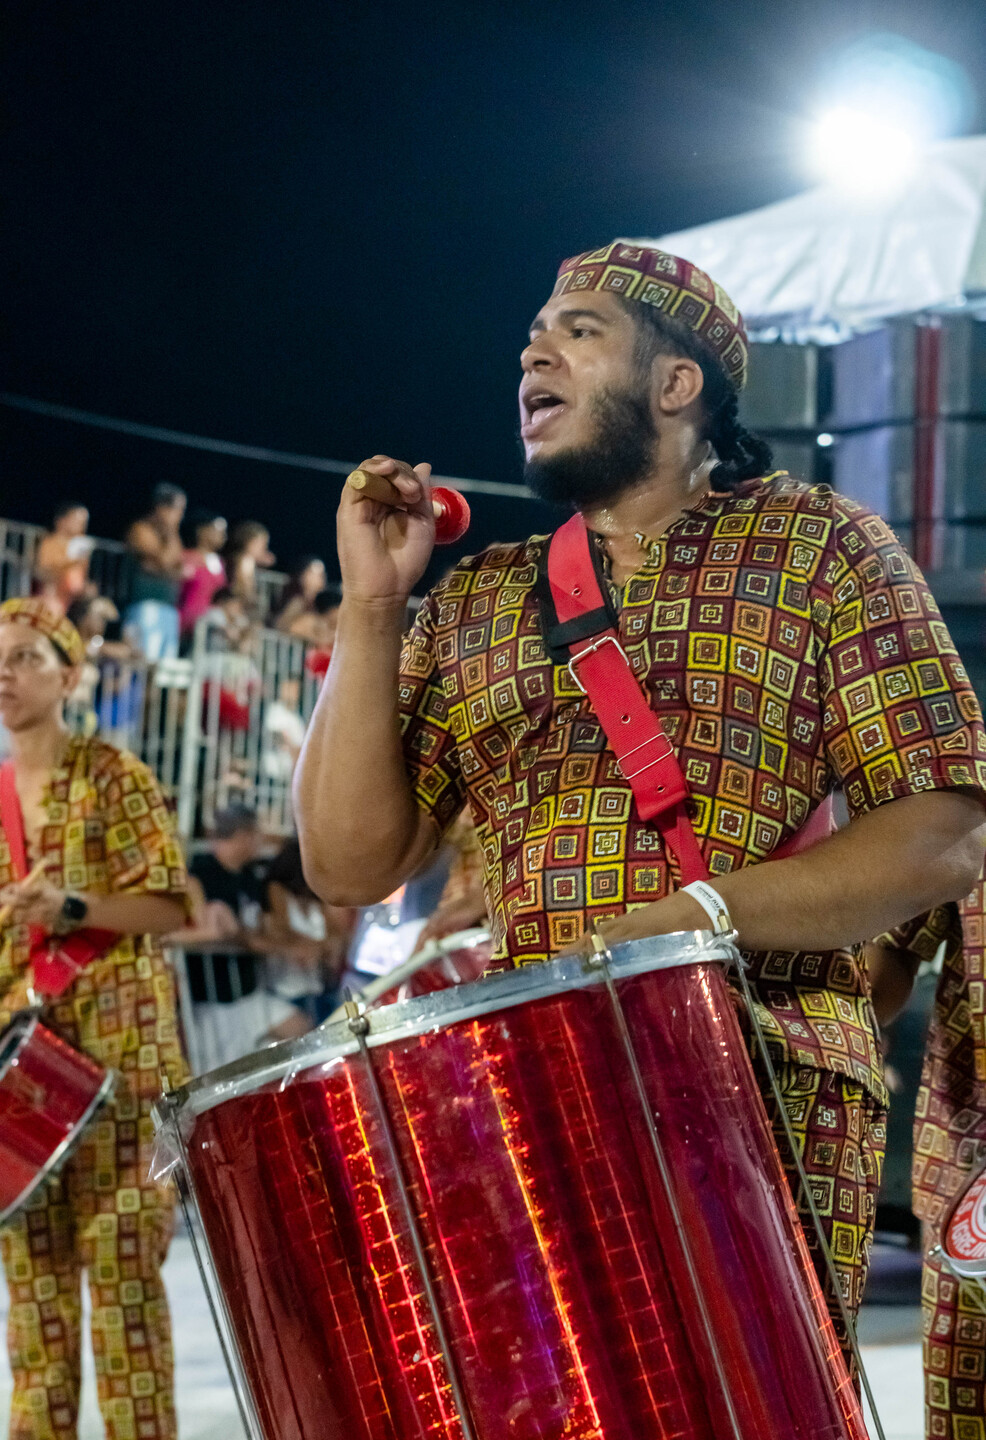
{"label": "square-patterned short-sleeved shirt worn by the bearded man", "polygon": [[[442,829],[469,799],[499,968],[548,959],[677,884],[587,700],[546,652],[544,546],[463,560],[402,658],[415,793]],[[931,593],[884,521],[828,487],[779,472],[704,495],[619,600],[620,642],[678,752],[713,877],[766,858],[835,785],[851,815],[986,788],[979,706]],[[779,1054],[884,1097],[858,955],[751,963]]]}

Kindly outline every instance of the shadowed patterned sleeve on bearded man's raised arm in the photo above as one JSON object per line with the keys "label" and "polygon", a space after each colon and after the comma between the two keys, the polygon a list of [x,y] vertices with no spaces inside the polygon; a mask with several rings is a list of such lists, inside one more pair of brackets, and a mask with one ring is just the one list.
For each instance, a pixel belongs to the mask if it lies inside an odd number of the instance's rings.
{"label": "shadowed patterned sleeve on bearded man's raised arm", "polygon": [[448,829],[466,801],[456,737],[452,729],[439,649],[455,658],[455,635],[439,638],[440,589],[417,611],[400,657],[397,703],[404,765],[415,799],[440,831]]}

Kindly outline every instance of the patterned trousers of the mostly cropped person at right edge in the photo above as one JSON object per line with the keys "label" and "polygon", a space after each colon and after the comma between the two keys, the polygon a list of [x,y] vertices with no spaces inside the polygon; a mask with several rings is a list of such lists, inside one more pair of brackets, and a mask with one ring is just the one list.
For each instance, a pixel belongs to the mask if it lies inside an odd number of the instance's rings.
{"label": "patterned trousers of the mostly cropped person at right edge", "polygon": [[924,1433],[986,1440],[986,1287],[924,1261]]}

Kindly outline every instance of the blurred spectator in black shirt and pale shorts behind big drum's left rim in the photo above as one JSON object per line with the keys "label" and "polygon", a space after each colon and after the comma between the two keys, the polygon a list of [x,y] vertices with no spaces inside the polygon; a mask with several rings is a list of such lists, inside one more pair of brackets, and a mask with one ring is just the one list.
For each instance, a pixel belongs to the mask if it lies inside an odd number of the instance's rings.
{"label": "blurred spectator in black shirt and pale shorts behind big drum's left rim", "polygon": [[259,851],[253,811],[219,811],[209,851],[189,865],[191,924],[171,937],[186,952],[207,1068],[309,1028],[295,1005],[265,988],[262,956],[284,953],[284,945],[262,930],[266,876]]}

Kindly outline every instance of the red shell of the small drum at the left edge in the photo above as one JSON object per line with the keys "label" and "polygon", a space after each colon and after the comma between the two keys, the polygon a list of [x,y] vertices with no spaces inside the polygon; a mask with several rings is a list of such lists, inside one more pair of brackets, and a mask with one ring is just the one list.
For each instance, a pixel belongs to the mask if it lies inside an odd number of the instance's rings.
{"label": "red shell of the small drum at the left edge", "polygon": [[112,1076],[22,1011],[0,1035],[0,1224],[65,1161]]}

